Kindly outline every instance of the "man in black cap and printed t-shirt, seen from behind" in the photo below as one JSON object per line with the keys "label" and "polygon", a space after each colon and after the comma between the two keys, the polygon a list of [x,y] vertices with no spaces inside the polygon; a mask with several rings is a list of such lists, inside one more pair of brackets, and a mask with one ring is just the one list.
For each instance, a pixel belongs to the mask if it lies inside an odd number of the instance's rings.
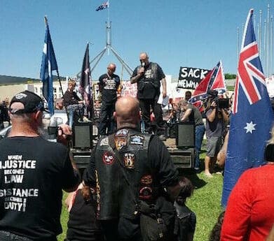
{"label": "man in black cap and printed t-shirt, seen from behind", "polygon": [[[67,147],[39,136],[39,96],[16,94],[9,111],[13,126],[0,141],[0,240],[54,241],[62,233],[62,189],[76,189],[78,170]],[[62,124],[58,140],[65,144],[67,134],[71,129]]]}

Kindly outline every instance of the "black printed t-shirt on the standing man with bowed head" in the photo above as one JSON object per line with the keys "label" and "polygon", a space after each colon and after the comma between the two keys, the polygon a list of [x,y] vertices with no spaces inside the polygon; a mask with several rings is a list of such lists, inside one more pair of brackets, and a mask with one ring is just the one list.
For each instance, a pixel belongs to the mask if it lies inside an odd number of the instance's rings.
{"label": "black printed t-shirt on the standing man with bowed head", "polygon": [[117,100],[117,89],[120,85],[118,75],[101,75],[99,78],[100,89],[102,89],[102,101],[104,103],[115,103]]}

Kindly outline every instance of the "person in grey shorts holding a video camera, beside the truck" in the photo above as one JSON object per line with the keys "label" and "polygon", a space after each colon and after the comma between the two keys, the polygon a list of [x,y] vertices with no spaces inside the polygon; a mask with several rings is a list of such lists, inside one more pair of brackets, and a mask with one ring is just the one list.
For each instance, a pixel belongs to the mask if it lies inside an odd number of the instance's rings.
{"label": "person in grey shorts holding a video camera, beside the truck", "polygon": [[207,108],[205,133],[207,136],[207,154],[205,156],[205,175],[212,177],[211,172],[217,159],[217,154],[221,149],[222,138],[226,123],[228,122],[228,113],[224,108],[219,108],[217,98],[209,100]]}

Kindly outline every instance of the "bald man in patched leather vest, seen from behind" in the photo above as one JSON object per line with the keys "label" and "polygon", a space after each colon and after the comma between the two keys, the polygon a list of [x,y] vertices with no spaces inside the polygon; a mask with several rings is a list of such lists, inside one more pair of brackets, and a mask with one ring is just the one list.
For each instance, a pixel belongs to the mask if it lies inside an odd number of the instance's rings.
{"label": "bald man in patched leather vest, seen from behind", "polygon": [[[142,235],[146,233],[145,228],[150,228],[140,226],[140,210],[144,205],[155,204],[163,193],[174,198],[172,190],[177,184],[177,170],[158,136],[137,129],[137,98],[118,99],[114,116],[118,129],[111,136],[100,138],[83,178],[85,184],[97,190],[97,219],[101,221],[107,241],[139,241],[142,240],[141,228]],[[164,205],[171,205],[172,217],[172,202],[165,200]],[[168,227],[167,230],[174,229]]]}

